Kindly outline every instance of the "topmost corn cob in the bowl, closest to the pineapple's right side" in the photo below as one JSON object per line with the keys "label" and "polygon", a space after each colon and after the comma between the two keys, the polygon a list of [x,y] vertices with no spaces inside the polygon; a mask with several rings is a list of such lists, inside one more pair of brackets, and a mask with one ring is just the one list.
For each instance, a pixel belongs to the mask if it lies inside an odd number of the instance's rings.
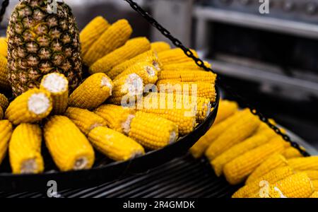
{"label": "topmost corn cob in the bowl, closest to the pineapple's right side", "polygon": [[102,33],[104,33],[110,24],[102,18],[102,16],[97,16],[86,25],[81,31],[80,40],[82,47],[82,54],[85,55],[88,49],[93,45],[94,42],[100,38]]}

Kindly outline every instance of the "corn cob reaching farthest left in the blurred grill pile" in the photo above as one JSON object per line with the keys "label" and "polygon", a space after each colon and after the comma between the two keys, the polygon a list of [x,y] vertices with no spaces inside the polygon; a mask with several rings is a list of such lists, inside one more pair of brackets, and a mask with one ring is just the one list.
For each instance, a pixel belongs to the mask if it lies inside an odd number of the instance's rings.
{"label": "corn cob reaching farthest left in the blurred grill pile", "polygon": [[208,149],[208,146],[211,145],[220,134],[228,128],[228,126],[234,124],[240,117],[242,116],[242,112],[236,112],[228,119],[225,119],[223,122],[219,124],[213,124],[211,129],[209,129],[204,136],[197,141],[192,148],[190,148],[190,153],[194,156],[194,158],[200,158]]}

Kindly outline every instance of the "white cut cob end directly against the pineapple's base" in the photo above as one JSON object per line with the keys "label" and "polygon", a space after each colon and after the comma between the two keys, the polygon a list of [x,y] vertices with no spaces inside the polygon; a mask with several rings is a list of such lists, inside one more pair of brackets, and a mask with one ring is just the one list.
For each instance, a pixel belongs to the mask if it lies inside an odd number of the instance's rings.
{"label": "white cut cob end directly against the pineapple's base", "polygon": [[61,93],[67,89],[68,83],[66,78],[59,76],[58,73],[50,73],[45,77],[43,87],[51,93]]}

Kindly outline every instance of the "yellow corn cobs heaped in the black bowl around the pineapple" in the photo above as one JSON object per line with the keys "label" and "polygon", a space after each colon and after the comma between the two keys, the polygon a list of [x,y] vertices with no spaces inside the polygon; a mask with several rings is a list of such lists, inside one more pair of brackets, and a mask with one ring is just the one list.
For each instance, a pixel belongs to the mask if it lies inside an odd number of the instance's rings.
{"label": "yellow corn cobs heaped in the black bowl around the pineapple", "polygon": [[[40,88],[11,102],[0,94],[0,165],[8,151],[13,173],[43,172],[43,138],[59,170],[88,169],[94,164],[94,149],[112,160],[129,160],[145,149],[177,141],[204,122],[216,100],[216,76],[198,68],[181,49],[151,43],[146,37],[129,39],[131,32],[127,20],[110,25],[102,17],[83,29],[83,61],[89,76],[73,93],[63,74],[48,73]],[[0,89],[8,89],[3,43]],[[163,84],[182,86],[181,91],[190,93],[146,89],[163,89]],[[192,88],[197,88],[195,99]],[[123,107],[124,98],[143,107]]]}

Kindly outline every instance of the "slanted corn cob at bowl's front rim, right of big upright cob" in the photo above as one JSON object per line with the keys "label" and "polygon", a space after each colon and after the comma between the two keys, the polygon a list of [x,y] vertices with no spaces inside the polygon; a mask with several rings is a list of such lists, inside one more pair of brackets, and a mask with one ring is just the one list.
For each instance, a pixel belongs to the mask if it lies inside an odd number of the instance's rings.
{"label": "slanted corn cob at bowl's front rim, right of big upright cob", "polygon": [[105,126],[92,129],[88,139],[98,151],[112,160],[129,160],[145,153],[139,143]]}

